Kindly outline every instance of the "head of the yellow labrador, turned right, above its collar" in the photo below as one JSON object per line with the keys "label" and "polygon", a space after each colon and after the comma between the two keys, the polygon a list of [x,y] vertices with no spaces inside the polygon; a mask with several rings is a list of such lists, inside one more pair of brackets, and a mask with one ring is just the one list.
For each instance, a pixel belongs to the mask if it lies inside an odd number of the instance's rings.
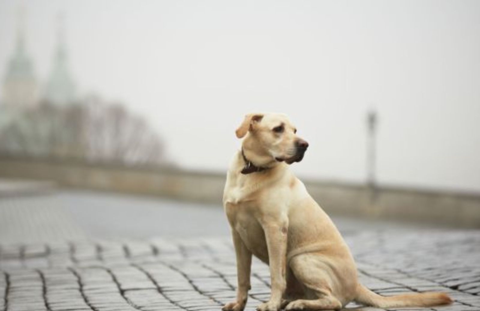
{"label": "head of the yellow labrador, turned right, above its collar", "polygon": [[248,114],[235,133],[238,138],[246,136],[242,147],[255,165],[300,162],[308,148],[284,114]]}

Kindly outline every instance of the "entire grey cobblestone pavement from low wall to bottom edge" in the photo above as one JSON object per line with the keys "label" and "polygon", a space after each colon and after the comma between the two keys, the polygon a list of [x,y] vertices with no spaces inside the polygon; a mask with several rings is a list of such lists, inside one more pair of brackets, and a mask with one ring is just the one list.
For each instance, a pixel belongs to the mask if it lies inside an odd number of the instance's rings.
{"label": "entire grey cobblestone pavement from low wall to bottom edge", "polygon": [[[0,311],[220,310],[237,283],[222,211],[162,202],[77,192],[1,199]],[[408,310],[480,311],[480,230],[336,222],[372,290],[444,291],[453,305]],[[198,223],[218,226],[208,231],[215,237],[200,238]],[[247,310],[268,299],[269,282],[254,260]]]}

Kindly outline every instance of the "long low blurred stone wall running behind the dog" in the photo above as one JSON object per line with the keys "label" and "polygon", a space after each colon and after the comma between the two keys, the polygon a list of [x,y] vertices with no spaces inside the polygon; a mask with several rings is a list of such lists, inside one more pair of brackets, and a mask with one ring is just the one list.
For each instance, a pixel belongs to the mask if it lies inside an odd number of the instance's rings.
{"label": "long low blurred stone wall running behind the dog", "polygon": [[[224,173],[171,167],[128,168],[76,161],[33,161],[0,157],[0,177],[55,181],[60,186],[167,196],[221,204]],[[480,194],[378,188],[305,181],[327,213],[480,228]]]}

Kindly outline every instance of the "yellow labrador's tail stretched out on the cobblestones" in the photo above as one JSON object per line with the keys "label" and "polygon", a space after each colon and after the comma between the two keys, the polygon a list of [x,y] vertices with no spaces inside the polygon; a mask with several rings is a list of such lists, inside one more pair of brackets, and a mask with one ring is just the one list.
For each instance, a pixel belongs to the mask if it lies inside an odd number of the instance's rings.
{"label": "yellow labrador's tail stretched out on the cobblestones", "polygon": [[403,294],[396,296],[380,296],[361,285],[357,286],[356,302],[377,308],[398,307],[431,307],[452,303],[452,299],[445,293],[426,292]]}

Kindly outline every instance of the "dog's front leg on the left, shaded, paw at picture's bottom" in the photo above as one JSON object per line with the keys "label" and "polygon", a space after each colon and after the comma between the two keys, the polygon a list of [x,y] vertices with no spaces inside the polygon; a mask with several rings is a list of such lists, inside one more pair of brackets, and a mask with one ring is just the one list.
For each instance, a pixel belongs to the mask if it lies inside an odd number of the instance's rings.
{"label": "dog's front leg on the left, shaded, paw at picture's bottom", "polygon": [[245,246],[235,229],[232,229],[233,244],[237,255],[237,300],[227,303],[223,311],[241,311],[245,308],[250,289],[250,268],[252,266],[252,253]]}

